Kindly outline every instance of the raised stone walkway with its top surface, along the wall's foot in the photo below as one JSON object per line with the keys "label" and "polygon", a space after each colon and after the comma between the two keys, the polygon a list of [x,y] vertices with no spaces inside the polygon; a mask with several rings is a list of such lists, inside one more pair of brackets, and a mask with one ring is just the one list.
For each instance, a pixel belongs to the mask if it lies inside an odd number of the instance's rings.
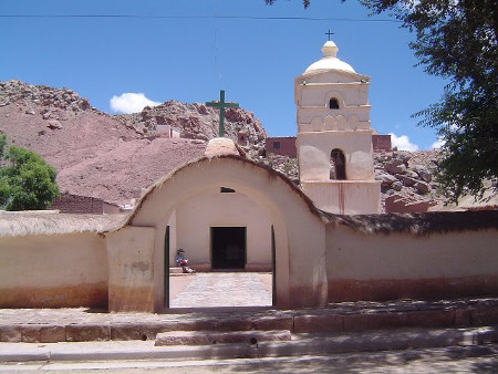
{"label": "raised stone walkway with its top surface, along the wall's foot", "polygon": [[154,340],[170,331],[289,330],[341,333],[403,328],[498,324],[498,299],[355,302],[317,310],[197,311],[189,314],[87,313],[74,310],[0,310],[0,342],[55,343]]}

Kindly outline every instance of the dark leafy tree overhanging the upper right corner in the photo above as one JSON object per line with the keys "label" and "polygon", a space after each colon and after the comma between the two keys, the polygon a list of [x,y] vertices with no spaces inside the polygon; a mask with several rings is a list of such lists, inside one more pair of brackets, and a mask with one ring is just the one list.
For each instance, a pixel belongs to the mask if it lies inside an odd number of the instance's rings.
{"label": "dark leafy tree overhanging the upper right corner", "polygon": [[[274,0],[267,0],[273,3]],[[414,32],[409,44],[428,74],[446,79],[438,103],[416,113],[437,129],[439,181],[453,200],[498,188],[498,3],[496,0],[360,0]],[[303,1],[304,8],[309,1]]]}

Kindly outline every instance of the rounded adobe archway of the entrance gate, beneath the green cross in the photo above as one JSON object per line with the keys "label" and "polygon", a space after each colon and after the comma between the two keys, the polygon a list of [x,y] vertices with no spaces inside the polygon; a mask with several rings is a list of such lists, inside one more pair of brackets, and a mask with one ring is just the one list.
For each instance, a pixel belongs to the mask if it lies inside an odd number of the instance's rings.
{"label": "rounded adobe archway of the entrance gate, beneath the green cross", "polygon": [[[199,240],[207,238],[209,220],[190,220],[191,226],[186,227],[178,220],[178,209],[188,201],[199,201],[199,216],[209,216],[203,209],[211,209],[215,215],[224,197],[212,201],[212,191],[219,193],[221,187],[242,195],[242,200],[252,201],[268,217],[268,227],[248,225],[247,241],[250,251],[249,243],[260,230],[274,232],[276,307],[319,307],[326,302],[325,225],[320,211],[277,172],[240,156],[216,155],[181,166],[159,180],[142,198],[127,224],[108,235],[108,260],[115,264],[110,273],[110,310],[167,309],[167,228],[174,242],[181,242],[193,232],[201,232]],[[228,208],[243,208],[237,201]],[[221,225],[238,225],[236,218],[226,216]]]}

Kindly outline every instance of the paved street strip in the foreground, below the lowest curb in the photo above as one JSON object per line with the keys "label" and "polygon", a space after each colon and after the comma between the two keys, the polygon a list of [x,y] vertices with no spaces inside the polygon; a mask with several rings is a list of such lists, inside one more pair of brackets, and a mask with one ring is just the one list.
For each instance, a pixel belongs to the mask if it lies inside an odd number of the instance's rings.
{"label": "paved street strip in the foreground, below the lowest curb", "polygon": [[205,361],[4,363],[0,372],[73,373],[497,373],[498,344],[293,357]]}

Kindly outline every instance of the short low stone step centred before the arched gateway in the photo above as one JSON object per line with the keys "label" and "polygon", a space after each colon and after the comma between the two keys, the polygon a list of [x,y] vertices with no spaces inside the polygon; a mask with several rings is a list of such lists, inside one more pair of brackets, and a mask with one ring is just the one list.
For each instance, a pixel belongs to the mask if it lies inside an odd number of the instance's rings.
{"label": "short low stone step centred before the arched gateway", "polygon": [[220,343],[248,343],[290,341],[289,330],[272,331],[170,331],[156,335],[155,345],[210,345]]}

